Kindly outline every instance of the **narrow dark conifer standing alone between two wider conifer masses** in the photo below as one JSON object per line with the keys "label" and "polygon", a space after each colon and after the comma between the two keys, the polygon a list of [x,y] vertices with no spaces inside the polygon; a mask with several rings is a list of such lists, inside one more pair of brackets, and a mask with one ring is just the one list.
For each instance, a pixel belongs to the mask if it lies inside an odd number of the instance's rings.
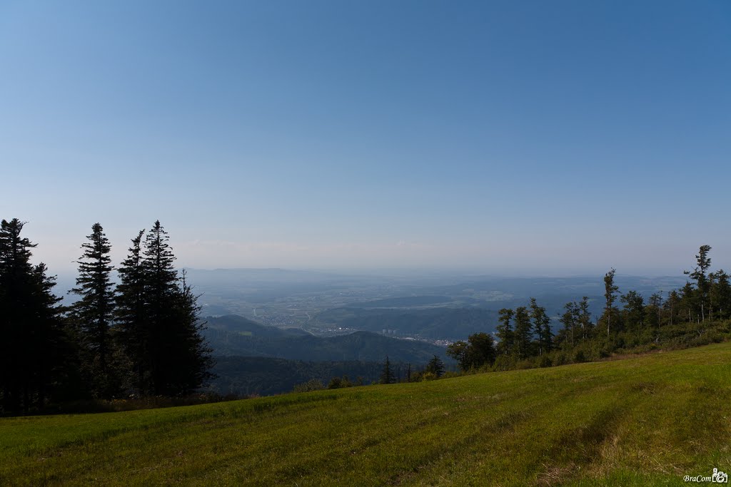
{"label": "narrow dark conifer standing alone between two wider conifer masses", "polygon": [[71,307],[71,318],[79,330],[83,364],[91,394],[111,399],[121,393],[120,367],[112,340],[114,291],[110,280],[111,245],[99,223],[91,226],[88,242],[81,245],[77,261],[79,275],[70,293],[80,299]]}

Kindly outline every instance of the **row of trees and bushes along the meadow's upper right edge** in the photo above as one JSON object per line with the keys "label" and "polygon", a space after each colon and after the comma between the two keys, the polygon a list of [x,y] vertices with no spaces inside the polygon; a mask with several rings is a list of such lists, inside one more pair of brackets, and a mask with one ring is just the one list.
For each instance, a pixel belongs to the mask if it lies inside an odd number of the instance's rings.
{"label": "row of trees and bushes along the meadow's upper right edge", "polygon": [[[568,302],[551,318],[531,298],[528,306],[499,310],[495,337],[472,334],[447,354],[466,370],[550,367],[597,360],[621,351],[683,348],[724,340],[730,332],[731,284],[723,269],[710,272],[710,245],[701,245],[683,288],[645,298],[621,294],[616,269],[604,276],[602,314],[592,317],[590,299]],[[620,304],[621,306],[619,306]],[[551,326],[557,322],[558,326]],[[555,330],[555,331],[554,331]]]}

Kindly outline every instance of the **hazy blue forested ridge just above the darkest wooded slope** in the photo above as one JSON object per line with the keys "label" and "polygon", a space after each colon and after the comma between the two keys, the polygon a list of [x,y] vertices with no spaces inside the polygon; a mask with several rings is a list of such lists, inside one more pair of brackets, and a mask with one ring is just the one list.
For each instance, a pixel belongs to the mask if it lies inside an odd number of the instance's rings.
{"label": "hazy blue forested ridge just above the darkest wooded slope", "polygon": [[216,356],[253,356],[306,361],[383,361],[426,364],[446,350],[417,340],[398,340],[368,331],[316,337],[300,329],[277,329],[238,315],[205,318],[204,331]]}

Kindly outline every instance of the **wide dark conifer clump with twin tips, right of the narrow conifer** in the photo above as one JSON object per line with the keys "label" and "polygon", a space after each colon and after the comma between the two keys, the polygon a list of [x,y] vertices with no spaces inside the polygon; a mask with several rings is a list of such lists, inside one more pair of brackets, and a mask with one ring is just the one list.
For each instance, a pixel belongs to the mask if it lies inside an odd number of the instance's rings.
{"label": "wide dark conifer clump with twin tips, right of the narrow conifer", "polygon": [[211,377],[211,349],[202,338],[197,296],[182,285],[169,237],[159,221],[132,241],[123,262],[119,313],[125,348],[141,394],[181,396]]}

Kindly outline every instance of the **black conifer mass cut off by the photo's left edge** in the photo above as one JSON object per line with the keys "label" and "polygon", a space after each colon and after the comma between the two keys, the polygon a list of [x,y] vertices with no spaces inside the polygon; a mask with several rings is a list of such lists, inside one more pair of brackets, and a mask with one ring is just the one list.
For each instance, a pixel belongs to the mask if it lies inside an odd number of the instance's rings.
{"label": "black conifer mass cut off by the photo's left edge", "polygon": [[36,244],[20,237],[23,226],[17,218],[0,224],[0,388],[10,412],[45,406],[71,363],[55,277],[31,264]]}

